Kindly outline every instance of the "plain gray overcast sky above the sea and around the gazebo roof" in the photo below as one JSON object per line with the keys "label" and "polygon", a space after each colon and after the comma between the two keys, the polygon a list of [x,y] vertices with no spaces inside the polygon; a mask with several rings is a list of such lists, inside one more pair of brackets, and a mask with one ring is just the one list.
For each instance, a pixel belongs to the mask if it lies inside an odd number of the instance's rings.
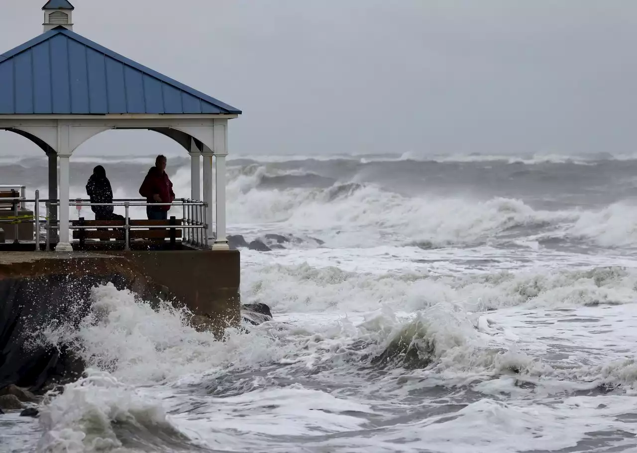
{"label": "plain gray overcast sky above the sea and around the gazebo roof", "polygon": [[[45,0],[0,3],[0,53],[42,31]],[[231,153],[637,151],[635,0],[72,3],[75,32],[242,109]],[[180,152],[122,131],[78,152],[157,148]]]}

